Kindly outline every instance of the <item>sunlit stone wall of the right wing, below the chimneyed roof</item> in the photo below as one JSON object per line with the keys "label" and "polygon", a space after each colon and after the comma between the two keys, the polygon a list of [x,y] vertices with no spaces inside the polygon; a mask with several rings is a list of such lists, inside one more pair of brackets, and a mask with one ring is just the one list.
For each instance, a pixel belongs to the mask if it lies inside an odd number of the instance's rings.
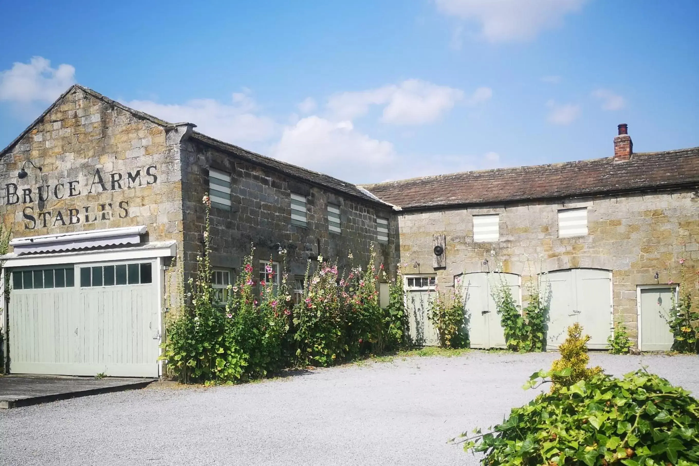
{"label": "sunlit stone wall of the right wing, below the chimneyed roof", "polygon": [[[557,211],[583,206],[588,210],[589,234],[559,238]],[[500,214],[500,241],[473,241],[475,214]],[[627,323],[634,339],[637,285],[681,282],[684,269],[684,285],[696,289],[696,191],[403,212],[398,215],[398,223],[401,262],[408,263],[408,272],[434,272],[432,235],[447,236],[447,267],[437,271],[442,286],[453,285],[454,275],[462,272],[486,272],[493,267],[522,275],[523,283],[552,270],[612,270],[614,314]],[[679,259],[685,259],[684,265]],[[414,267],[416,262],[419,268]]]}

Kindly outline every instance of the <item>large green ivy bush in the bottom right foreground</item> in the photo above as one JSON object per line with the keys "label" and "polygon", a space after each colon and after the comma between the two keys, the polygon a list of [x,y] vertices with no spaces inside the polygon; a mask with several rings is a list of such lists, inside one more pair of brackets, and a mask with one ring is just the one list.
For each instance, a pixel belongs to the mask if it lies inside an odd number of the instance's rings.
{"label": "large green ivy bush in the bottom right foreground", "polygon": [[[571,372],[535,372],[524,388]],[[638,370],[622,379],[598,373],[542,393],[491,431],[464,433],[459,442],[485,453],[482,465],[689,466],[699,462],[698,432],[699,402]]]}

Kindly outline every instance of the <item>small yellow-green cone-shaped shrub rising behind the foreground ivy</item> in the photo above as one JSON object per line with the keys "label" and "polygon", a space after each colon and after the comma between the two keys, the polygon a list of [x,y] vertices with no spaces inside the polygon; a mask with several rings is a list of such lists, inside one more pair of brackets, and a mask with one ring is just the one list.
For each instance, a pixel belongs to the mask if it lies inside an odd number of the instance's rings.
{"label": "small yellow-green cone-shaped shrub rising behind the foreground ivy", "polygon": [[[559,346],[561,358],[556,359],[552,365],[552,391],[556,391],[564,386],[570,386],[580,380],[590,380],[595,375],[602,372],[602,368],[587,367],[590,361],[590,356],[587,355],[587,342],[590,340],[590,335],[582,336],[582,326],[579,323],[574,323],[568,327],[568,338]],[[570,369],[570,373],[561,375],[560,372],[564,369]]]}

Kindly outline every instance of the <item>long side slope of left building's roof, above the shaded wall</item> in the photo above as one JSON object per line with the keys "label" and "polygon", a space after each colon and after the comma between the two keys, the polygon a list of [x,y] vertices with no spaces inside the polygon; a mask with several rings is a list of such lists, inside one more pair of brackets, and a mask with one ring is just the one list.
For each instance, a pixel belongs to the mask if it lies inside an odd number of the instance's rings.
{"label": "long side slope of left building's roof, above the shaded wall", "polygon": [[357,187],[355,184],[345,182],[343,180],[338,180],[330,175],[325,175],[324,173],[318,173],[313,170],[292,165],[291,163],[282,162],[278,159],[260,155],[255,152],[245,150],[243,147],[238,147],[237,145],[224,143],[222,140],[211,138],[210,136],[206,136],[206,134],[199,133],[199,131],[193,131],[191,138],[199,140],[201,143],[206,145],[215,147],[216,149],[228,152],[229,154],[238,157],[238,159],[243,159],[245,161],[249,161],[250,163],[254,163],[257,166],[271,168],[272,170],[284,173],[284,175],[289,175],[298,180],[316,184],[317,186],[329,188],[342,194],[348,194],[349,196],[360,198],[362,201],[381,204],[387,208],[393,207],[393,205],[389,205],[388,203],[382,201],[382,199],[377,198],[372,193],[366,191],[366,189],[362,189],[361,187]]}

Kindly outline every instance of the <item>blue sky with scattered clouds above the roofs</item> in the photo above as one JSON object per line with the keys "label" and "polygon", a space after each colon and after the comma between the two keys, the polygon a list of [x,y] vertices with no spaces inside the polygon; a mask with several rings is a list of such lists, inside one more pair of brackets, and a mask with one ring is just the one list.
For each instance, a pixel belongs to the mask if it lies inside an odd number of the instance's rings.
{"label": "blue sky with scattered clouds above the roofs", "polygon": [[73,82],[351,182],[699,146],[696,0],[3,11],[1,147]]}

